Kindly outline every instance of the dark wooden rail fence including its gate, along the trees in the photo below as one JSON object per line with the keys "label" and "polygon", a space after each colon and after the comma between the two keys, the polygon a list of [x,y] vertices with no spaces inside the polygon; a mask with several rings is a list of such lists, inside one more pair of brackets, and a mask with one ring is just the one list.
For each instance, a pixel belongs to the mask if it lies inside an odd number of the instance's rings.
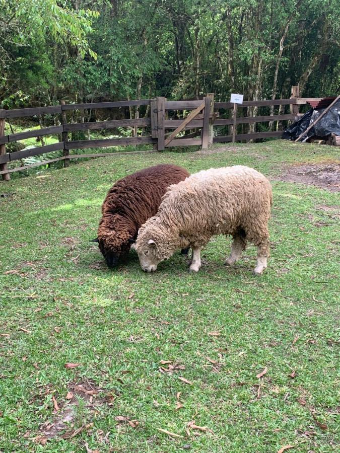
{"label": "dark wooden rail fence including its gate, along the trees", "polygon": [[[293,87],[295,88],[295,87]],[[308,99],[299,98],[298,93],[292,91],[293,96],[290,99],[275,99],[265,101],[245,101],[237,108],[244,107],[263,107],[274,105],[290,105],[290,114],[285,115],[267,115],[255,117],[237,117],[237,109],[234,111],[236,117],[236,130],[238,124],[258,123],[267,121],[284,121],[295,120],[299,116],[299,105],[306,104]],[[112,121],[93,121],[84,123],[68,123],[66,112],[78,109],[112,109],[130,106],[149,106],[150,117],[136,119],[119,119]],[[85,149],[93,147],[106,146],[124,146],[124,145],[140,145],[150,144],[153,149],[150,151],[140,151],[138,153],[150,153],[161,151],[169,146],[189,146],[199,145],[202,149],[208,148],[213,142],[228,142],[233,141],[233,135],[215,136],[213,132],[214,126],[231,126],[235,118],[219,118],[219,110],[233,109],[234,104],[230,102],[216,102],[214,104],[214,95],[209,94],[202,100],[198,101],[167,101],[164,97],[154,99],[143,99],[135,101],[116,101],[116,102],[97,102],[89,104],[66,104],[64,101],[60,105],[48,107],[35,107],[15,110],[0,109],[0,175],[4,180],[10,180],[10,173],[21,171],[27,168],[36,167],[39,165],[49,164],[52,162],[64,161],[64,166],[68,166],[71,159],[92,158],[112,155],[113,153],[101,154],[75,154],[71,155],[72,149]],[[183,111],[190,110],[191,112],[184,119],[168,119],[168,111]],[[27,132],[4,134],[5,121],[11,118],[29,117],[43,114],[59,115],[60,125],[45,127],[41,129],[30,130]],[[93,140],[69,140],[69,132],[79,130],[95,130],[95,129],[113,129],[116,127],[143,127],[151,130],[151,135],[134,136],[126,138],[104,138]],[[173,132],[169,132],[173,130]],[[190,133],[190,130],[193,132]],[[189,133],[186,133],[189,131]],[[176,138],[178,133],[184,132],[180,138]],[[235,131],[236,132],[236,131]],[[61,141],[37,146],[30,149],[23,149],[12,153],[6,153],[6,143],[15,142],[31,137],[41,137],[50,134],[61,134]],[[252,133],[235,133],[235,140],[249,140],[257,138],[280,137],[282,131],[264,131]],[[48,159],[30,165],[8,169],[8,163],[21,160],[24,158],[39,156],[46,153],[51,153],[57,150],[62,150],[62,156],[55,159]],[[131,153],[131,152],[130,152]],[[126,154],[126,153],[114,153]]]}

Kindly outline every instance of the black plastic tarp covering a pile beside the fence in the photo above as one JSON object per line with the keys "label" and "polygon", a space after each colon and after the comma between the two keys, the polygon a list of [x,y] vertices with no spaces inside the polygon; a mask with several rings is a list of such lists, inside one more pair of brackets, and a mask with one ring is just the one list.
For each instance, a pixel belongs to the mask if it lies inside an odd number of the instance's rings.
{"label": "black plastic tarp covering a pile beside the fence", "polygon": [[[296,140],[324,110],[325,109],[308,110],[299,121],[296,121],[284,131],[282,137],[287,140]],[[340,135],[340,99],[325,113],[320,121],[307,132],[307,135],[302,137],[301,141],[306,141],[308,138],[314,136],[327,137],[331,133]]]}

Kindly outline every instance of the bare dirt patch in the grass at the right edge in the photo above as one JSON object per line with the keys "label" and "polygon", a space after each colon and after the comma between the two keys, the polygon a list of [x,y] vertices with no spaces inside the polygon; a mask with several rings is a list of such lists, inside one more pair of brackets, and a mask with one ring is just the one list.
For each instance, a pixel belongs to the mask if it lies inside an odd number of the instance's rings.
{"label": "bare dirt patch in the grass at the right edge", "polygon": [[285,173],[279,177],[279,180],[311,184],[331,192],[340,192],[340,164],[325,162],[289,167]]}

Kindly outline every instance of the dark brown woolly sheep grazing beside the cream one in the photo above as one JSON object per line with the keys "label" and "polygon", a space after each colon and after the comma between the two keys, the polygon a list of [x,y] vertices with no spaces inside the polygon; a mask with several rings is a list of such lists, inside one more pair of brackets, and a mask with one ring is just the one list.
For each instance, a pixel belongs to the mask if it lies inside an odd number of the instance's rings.
{"label": "dark brown woolly sheep grazing beside the cream one", "polygon": [[98,237],[91,241],[98,242],[108,267],[129,252],[141,225],[157,213],[167,188],[188,176],[184,168],[160,164],[125,176],[111,187],[102,205]]}

